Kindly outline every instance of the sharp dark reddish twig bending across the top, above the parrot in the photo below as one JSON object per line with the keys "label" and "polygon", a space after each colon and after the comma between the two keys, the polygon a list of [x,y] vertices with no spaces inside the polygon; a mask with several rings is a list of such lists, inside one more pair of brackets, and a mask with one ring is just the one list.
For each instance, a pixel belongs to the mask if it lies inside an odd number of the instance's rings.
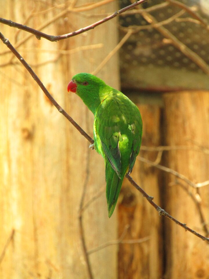
{"label": "sharp dark reddish twig bending across the top, above the parrot", "polygon": [[126,12],[127,10],[130,10],[130,9],[132,9],[132,8],[138,6],[139,4],[142,4],[142,3],[146,2],[146,1],[148,1],[148,0],[140,0],[140,1],[134,2],[133,4],[131,4],[131,5],[127,6],[127,7],[125,7],[125,8],[122,8],[122,9],[116,11],[112,15],[109,15],[108,17],[105,17],[105,18],[103,18],[103,19],[101,19],[101,20],[99,20],[97,22],[94,22],[93,24],[91,24],[89,26],[86,26],[84,28],[81,28],[81,29],[79,29],[77,31],[73,31],[73,32],[68,33],[68,34],[58,35],[58,36],[48,35],[46,33],[38,31],[38,30],[36,30],[34,28],[31,28],[31,27],[28,27],[28,26],[25,26],[25,25],[22,25],[22,24],[19,24],[17,22],[13,22],[11,20],[4,19],[4,18],[0,18],[0,22],[3,23],[3,24],[9,25],[9,26],[18,28],[18,29],[22,29],[22,30],[24,30],[26,32],[29,32],[29,33],[35,35],[37,37],[37,39],[41,39],[41,37],[43,37],[46,40],[49,40],[51,42],[57,42],[59,40],[67,39],[67,38],[79,35],[81,33],[84,33],[86,31],[89,31],[89,30],[95,28],[96,26],[98,26],[100,24],[103,24],[104,22],[107,22],[110,19],[113,19],[114,17],[120,15],[121,13]]}

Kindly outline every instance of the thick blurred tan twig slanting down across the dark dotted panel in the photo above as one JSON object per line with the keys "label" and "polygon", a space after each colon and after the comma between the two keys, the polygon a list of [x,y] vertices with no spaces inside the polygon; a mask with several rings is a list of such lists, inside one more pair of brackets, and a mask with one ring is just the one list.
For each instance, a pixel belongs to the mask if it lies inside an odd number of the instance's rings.
{"label": "thick blurred tan twig slanting down across the dark dotted panel", "polygon": [[[142,16],[150,24],[157,24],[157,20],[147,12],[143,12]],[[196,63],[206,74],[209,75],[209,66],[208,64],[199,56],[197,53],[189,49],[185,44],[179,41],[170,31],[168,31],[163,26],[153,26],[158,30],[163,36],[171,40],[171,43],[179,49],[185,56],[190,58],[194,63]]]}

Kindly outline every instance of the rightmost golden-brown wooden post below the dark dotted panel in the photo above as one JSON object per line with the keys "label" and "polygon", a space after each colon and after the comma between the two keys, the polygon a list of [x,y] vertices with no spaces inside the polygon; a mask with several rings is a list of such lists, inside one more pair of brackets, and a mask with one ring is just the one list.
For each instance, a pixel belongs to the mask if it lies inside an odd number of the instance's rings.
{"label": "rightmost golden-brown wooden post below the dark dotted panel", "polygon": [[[209,180],[209,92],[174,92],[164,94],[163,98],[166,144],[189,148],[169,151],[168,167],[193,183]],[[165,210],[190,228],[207,235],[208,186],[194,189],[184,181],[179,181],[181,185],[176,177],[169,175],[165,185]],[[165,278],[208,278],[208,244],[170,220],[166,220],[165,225]]]}

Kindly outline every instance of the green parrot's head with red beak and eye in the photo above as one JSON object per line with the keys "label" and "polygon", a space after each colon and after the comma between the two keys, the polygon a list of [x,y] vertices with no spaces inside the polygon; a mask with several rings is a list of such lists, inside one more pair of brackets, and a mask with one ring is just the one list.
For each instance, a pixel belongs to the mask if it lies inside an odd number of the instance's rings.
{"label": "green parrot's head with red beak and eye", "polygon": [[107,87],[100,78],[87,73],[76,74],[68,84],[68,92],[74,92],[84,101],[94,113],[102,101],[104,88]]}

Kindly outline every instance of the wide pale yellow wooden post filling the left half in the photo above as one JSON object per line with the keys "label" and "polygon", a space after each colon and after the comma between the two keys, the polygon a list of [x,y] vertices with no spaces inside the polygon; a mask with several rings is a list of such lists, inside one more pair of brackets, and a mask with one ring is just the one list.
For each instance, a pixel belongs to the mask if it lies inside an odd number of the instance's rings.
{"label": "wide pale yellow wooden post filling the left half", "polygon": [[[112,2],[83,10],[86,16],[68,12],[55,21],[64,7],[53,10],[47,3],[1,1],[0,10],[5,18],[34,28],[51,20],[42,31],[53,35],[98,19],[89,15],[117,10]],[[77,1],[76,5],[84,3]],[[14,45],[28,36],[3,25],[1,32]],[[91,136],[93,115],[78,96],[68,95],[67,84],[74,74],[91,72],[100,64],[115,47],[115,34],[113,20],[60,42],[32,36],[18,49],[57,102]],[[90,46],[98,44],[102,46]],[[82,46],[86,47],[78,48]],[[7,50],[1,43],[0,52]],[[0,64],[12,56],[0,56]],[[82,242],[88,252],[117,238],[116,214],[111,219],[107,214],[103,159],[88,148],[89,142],[51,105],[16,58],[13,62],[0,69],[0,278],[90,278]],[[114,56],[98,73],[116,88],[117,65]],[[81,235],[81,199],[84,206],[101,189],[102,195],[82,211]],[[116,279],[116,260],[116,246],[89,255],[93,277]]]}

